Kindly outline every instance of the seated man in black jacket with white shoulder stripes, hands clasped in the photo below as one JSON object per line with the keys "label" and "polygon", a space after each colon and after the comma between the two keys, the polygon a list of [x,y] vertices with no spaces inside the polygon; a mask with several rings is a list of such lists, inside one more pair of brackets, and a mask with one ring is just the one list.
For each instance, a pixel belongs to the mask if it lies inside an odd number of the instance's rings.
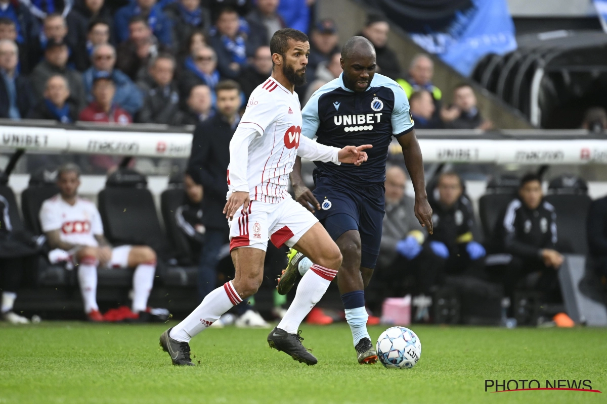
{"label": "seated man in black jacket with white shoulder stripes, hands clasped", "polygon": [[563,256],[557,251],[557,213],[544,200],[536,174],[526,174],[521,179],[518,198],[510,202],[498,220],[495,234],[502,251],[512,255],[503,276],[507,295],[513,296],[523,277],[540,272],[535,290],[546,294],[548,300],[558,300],[557,270]]}

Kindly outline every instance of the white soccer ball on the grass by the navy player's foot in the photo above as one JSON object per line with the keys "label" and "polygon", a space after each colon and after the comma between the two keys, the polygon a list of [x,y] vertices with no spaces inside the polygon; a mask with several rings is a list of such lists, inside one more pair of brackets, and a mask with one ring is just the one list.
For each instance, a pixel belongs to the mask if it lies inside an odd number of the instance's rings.
{"label": "white soccer ball on the grass by the navy player's foot", "polygon": [[421,342],[405,327],[390,327],[378,338],[375,346],[379,361],[386,368],[412,368],[421,357]]}

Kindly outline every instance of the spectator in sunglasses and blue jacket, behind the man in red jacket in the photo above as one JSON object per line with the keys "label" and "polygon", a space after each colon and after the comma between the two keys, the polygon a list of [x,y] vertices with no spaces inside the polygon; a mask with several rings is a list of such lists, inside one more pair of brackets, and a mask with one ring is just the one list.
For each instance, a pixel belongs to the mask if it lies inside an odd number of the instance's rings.
{"label": "spectator in sunglasses and blue jacket, behind the man in red jacket", "polygon": [[129,76],[114,68],[116,64],[116,50],[114,47],[110,44],[95,47],[93,49],[92,63],[93,65],[83,74],[87,101],[93,100],[91,93],[93,79],[98,75],[98,72],[106,71],[109,73],[116,87],[114,102],[131,114],[131,116],[137,113],[143,106],[143,94],[139,87],[129,79]]}

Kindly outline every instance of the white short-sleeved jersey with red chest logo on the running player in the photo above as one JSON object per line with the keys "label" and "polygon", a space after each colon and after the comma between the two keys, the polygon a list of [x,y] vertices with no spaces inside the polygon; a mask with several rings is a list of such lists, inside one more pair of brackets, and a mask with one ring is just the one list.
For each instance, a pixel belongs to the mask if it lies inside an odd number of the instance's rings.
{"label": "white short-sleeved jersey with red chest logo on the running player", "polygon": [[[288,196],[289,174],[297,157],[302,130],[297,93],[268,78],[251,93],[239,126],[258,133],[248,148],[246,173],[251,200],[279,203]],[[230,167],[242,163],[229,162],[228,186],[231,185]]]}

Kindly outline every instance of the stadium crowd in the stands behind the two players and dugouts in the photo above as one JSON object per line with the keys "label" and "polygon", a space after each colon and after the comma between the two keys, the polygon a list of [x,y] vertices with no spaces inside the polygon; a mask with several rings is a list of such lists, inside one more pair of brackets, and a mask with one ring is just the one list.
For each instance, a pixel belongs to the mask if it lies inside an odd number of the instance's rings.
{"label": "stadium crowd in the stands behind the two players and dugouts", "polygon": [[[0,1],[0,118],[188,125],[215,114],[215,87],[233,79],[242,101],[271,71],[270,38],[284,27],[310,32],[302,105],[341,74],[337,26],[314,24],[305,0]],[[402,73],[387,47],[390,26],[370,15],[378,71],[411,99],[419,128],[492,127],[472,88],[443,105],[427,55]],[[242,102],[244,105],[245,102]]]}

